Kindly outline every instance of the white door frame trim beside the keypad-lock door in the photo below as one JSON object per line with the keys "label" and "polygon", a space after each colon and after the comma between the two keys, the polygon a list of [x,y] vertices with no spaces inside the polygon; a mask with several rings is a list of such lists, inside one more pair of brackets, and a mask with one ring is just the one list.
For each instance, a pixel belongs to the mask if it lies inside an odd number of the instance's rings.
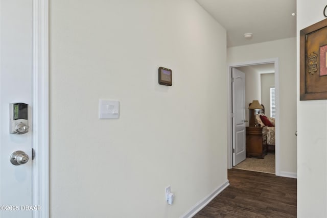
{"label": "white door frame trim beside the keypad-lock door", "polygon": [[32,0],[33,218],[49,217],[49,0]]}

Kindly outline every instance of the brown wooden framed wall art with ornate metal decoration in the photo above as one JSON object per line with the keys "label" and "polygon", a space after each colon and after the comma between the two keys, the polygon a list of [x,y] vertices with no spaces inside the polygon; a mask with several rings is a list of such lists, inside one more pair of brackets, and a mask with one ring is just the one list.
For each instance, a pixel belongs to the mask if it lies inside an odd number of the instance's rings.
{"label": "brown wooden framed wall art with ornate metal decoration", "polygon": [[327,19],[300,31],[300,101],[327,99]]}

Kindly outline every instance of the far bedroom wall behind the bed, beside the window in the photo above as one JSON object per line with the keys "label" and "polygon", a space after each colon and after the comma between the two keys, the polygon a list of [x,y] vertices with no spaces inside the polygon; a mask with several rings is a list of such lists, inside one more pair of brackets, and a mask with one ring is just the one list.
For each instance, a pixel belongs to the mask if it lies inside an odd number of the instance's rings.
{"label": "far bedroom wall behind the bed, beside the window", "polygon": [[275,86],[275,74],[261,74],[261,104],[265,106],[265,114],[270,116],[270,88]]}

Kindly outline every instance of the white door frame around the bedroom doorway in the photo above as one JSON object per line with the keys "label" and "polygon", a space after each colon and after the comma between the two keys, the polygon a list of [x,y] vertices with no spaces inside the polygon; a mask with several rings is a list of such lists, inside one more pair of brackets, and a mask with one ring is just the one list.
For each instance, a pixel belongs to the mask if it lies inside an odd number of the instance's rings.
{"label": "white door frame around the bedroom doorway", "polygon": [[275,128],[275,175],[280,176],[281,172],[279,169],[279,71],[278,71],[278,58],[271,58],[271,59],[264,59],[264,60],[257,60],[257,61],[248,61],[243,63],[236,63],[228,65],[228,110],[227,110],[227,168],[232,168],[232,123],[231,123],[231,106],[232,106],[232,99],[231,99],[231,68],[233,67],[241,67],[241,66],[249,66],[249,65],[256,65],[256,64],[268,64],[273,63],[275,66],[275,103],[276,103],[276,128]]}

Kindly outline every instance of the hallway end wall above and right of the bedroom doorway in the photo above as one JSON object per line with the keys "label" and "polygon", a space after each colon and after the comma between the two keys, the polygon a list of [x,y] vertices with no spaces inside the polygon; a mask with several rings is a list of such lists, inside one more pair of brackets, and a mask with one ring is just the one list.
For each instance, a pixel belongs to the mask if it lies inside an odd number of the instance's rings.
{"label": "hallway end wall above and right of the bedroom doorway", "polygon": [[[254,52],[255,51],[255,52]],[[279,175],[296,176],[296,38],[227,49],[228,65],[278,58]],[[276,82],[276,81],[275,81]],[[277,130],[276,130],[277,131]],[[278,172],[277,172],[278,173]]]}

